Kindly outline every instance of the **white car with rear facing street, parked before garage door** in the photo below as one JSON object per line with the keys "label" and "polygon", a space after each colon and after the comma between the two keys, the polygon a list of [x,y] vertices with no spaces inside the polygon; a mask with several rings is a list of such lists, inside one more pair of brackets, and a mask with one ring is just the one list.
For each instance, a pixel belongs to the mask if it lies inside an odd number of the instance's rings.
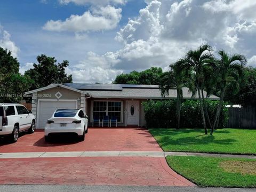
{"label": "white car with rear facing street, parked before garage door", "polygon": [[79,140],[83,141],[88,132],[87,124],[87,116],[81,109],[57,109],[45,125],[45,141],[55,133],[76,133]]}

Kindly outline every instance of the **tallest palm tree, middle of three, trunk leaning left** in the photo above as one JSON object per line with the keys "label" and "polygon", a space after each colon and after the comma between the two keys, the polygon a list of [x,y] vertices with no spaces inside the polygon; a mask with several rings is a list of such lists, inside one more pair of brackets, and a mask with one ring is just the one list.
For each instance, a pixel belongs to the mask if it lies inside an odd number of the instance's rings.
{"label": "tallest palm tree, middle of three, trunk leaning left", "polygon": [[210,45],[203,44],[199,46],[196,50],[190,50],[189,52],[187,52],[185,58],[182,58],[176,62],[179,71],[185,70],[187,71],[187,74],[190,73],[194,76],[194,87],[196,90],[191,91],[196,91],[198,94],[205,134],[207,134],[207,127],[204,116],[204,107],[201,97],[201,90],[203,89],[202,84],[205,81],[205,71],[210,71],[212,68],[211,63],[214,60],[214,56],[211,53],[212,51],[213,50]]}

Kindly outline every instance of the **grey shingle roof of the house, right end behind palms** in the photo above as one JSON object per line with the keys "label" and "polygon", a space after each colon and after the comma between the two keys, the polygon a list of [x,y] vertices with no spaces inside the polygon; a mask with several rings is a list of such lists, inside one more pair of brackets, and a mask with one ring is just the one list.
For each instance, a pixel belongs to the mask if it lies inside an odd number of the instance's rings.
{"label": "grey shingle roof of the house, right end behind palms", "polygon": [[[87,84],[87,83],[64,83],[51,84],[41,89],[28,91],[25,94],[31,94],[37,91],[51,89],[55,86],[61,86],[66,89],[89,94],[93,98],[123,98],[123,99],[163,99],[158,85],[123,85],[123,84]],[[187,87],[182,88],[183,98],[190,99],[192,94]],[[206,95],[206,92],[204,92]],[[165,99],[177,98],[177,90],[169,90],[169,95]],[[194,99],[198,99],[196,94]],[[219,99],[215,95],[210,95],[209,99]]]}

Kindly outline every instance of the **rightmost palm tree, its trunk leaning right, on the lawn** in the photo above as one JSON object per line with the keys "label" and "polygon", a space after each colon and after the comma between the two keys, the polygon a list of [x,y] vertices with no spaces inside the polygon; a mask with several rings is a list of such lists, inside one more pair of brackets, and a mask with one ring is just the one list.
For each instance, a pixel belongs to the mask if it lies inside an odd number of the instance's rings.
{"label": "rightmost palm tree, its trunk leaning right, on the lawn", "polygon": [[242,54],[233,54],[229,56],[225,51],[219,51],[220,59],[216,60],[215,71],[218,74],[217,83],[220,88],[220,100],[214,123],[211,129],[211,135],[214,128],[218,127],[219,117],[223,98],[227,85],[231,86],[234,92],[239,90],[239,79],[243,74],[243,67],[246,65],[246,58]]}

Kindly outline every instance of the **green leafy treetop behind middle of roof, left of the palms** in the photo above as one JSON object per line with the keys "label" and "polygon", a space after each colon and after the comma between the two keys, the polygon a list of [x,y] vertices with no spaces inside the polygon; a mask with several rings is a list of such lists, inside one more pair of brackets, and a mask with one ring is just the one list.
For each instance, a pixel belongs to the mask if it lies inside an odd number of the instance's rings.
{"label": "green leafy treetop behind middle of roof, left of the palms", "polygon": [[162,68],[151,67],[141,72],[132,71],[130,74],[118,75],[113,84],[158,85],[162,74]]}

